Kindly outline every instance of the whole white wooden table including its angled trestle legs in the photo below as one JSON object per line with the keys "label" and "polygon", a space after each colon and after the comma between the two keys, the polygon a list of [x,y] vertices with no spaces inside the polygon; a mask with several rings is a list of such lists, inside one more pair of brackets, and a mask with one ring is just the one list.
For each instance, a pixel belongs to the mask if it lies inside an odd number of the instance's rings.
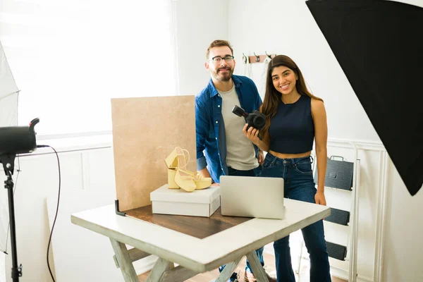
{"label": "whole white wooden table including its angled trestle legs", "polygon": [[[147,281],[185,281],[226,264],[216,281],[227,281],[247,256],[257,281],[267,281],[255,250],[326,216],[330,208],[284,200],[285,219],[251,219],[199,239],[147,221],[119,216],[114,205],[72,214],[72,223],[110,238],[115,262],[127,282],[138,282],[133,262],[148,255],[159,259]],[[133,246],[128,250],[126,245]],[[179,264],[173,267],[173,263]]]}

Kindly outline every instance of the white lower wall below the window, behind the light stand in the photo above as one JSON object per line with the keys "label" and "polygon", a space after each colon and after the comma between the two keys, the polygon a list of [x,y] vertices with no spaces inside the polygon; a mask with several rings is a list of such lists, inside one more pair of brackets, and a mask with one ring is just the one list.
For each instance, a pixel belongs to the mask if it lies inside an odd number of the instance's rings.
{"label": "white lower wall below the window, behind the light stand", "polygon": [[[42,143],[39,142],[39,144]],[[102,270],[104,268],[102,264],[109,265],[109,269],[115,270],[115,277],[121,278],[120,271],[114,267],[113,259],[111,259],[113,253],[109,240],[74,226],[71,224],[70,216],[73,212],[114,204],[116,190],[114,189],[113,154],[111,154],[110,142],[109,147],[104,149],[88,149],[89,147],[85,145],[88,150],[74,152],[61,152],[68,149],[56,146],[54,142],[44,144],[51,144],[59,150],[61,164],[61,200],[49,257],[51,269],[57,278],[56,281],[66,281],[63,279],[66,276],[75,278],[73,281],[90,281],[90,277],[95,277],[91,276],[91,273],[94,274],[98,271],[100,273],[96,274],[97,277],[104,273],[110,276],[110,273]],[[97,143],[96,147],[104,147],[104,145]],[[76,146],[75,149],[77,149]],[[43,152],[52,151],[44,149]],[[18,166],[16,166],[13,179],[16,183],[15,214],[18,264],[23,266],[23,276],[20,281],[51,281],[46,256],[50,227],[54,220],[59,192],[56,156],[54,154],[33,154],[20,157],[19,162],[21,171],[16,180],[18,174]],[[16,161],[16,165],[17,163]],[[3,174],[1,179],[3,179],[4,173],[1,169],[0,171]],[[1,197],[6,197],[6,192],[1,191]],[[47,209],[47,200],[49,200],[49,209]],[[97,242],[101,242],[104,251],[97,252],[100,257],[92,257],[93,252],[97,250]],[[9,255],[6,257],[7,281],[11,281],[10,247],[9,237]],[[94,248],[90,250],[90,247]],[[105,257],[104,254],[109,256]],[[90,264],[88,264],[89,259],[91,260]],[[98,263],[98,260],[101,263]],[[95,263],[96,261],[97,263]],[[81,262],[87,264],[85,269]],[[95,270],[90,271],[90,268]],[[67,271],[69,272],[67,273]],[[79,278],[86,277],[87,279],[76,279],[78,275]]]}

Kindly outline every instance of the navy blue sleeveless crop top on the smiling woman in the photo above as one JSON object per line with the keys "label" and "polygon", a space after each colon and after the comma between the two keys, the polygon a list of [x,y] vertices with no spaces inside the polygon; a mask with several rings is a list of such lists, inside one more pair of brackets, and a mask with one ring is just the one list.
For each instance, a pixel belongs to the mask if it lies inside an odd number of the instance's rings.
{"label": "navy blue sleeveless crop top on the smiling woman", "polygon": [[269,127],[270,146],[281,154],[300,154],[313,148],[314,123],[311,97],[301,95],[293,104],[279,102]]}

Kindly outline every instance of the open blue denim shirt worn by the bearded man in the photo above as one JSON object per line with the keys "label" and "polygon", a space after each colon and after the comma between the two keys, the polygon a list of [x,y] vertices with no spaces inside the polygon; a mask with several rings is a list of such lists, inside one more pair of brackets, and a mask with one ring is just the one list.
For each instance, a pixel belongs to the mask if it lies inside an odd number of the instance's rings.
{"label": "open blue denim shirt worn by the bearded man", "polygon": [[[240,106],[247,113],[259,109],[262,99],[255,83],[245,76],[232,75]],[[207,167],[213,180],[228,175],[226,165],[226,135],[222,116],[222,98],[212,79],[195,97],[195,130],[197,135],[197,171]],[[256,149],[256,156],[258,149]],[[205,156],[204,153],[205,152]]]}

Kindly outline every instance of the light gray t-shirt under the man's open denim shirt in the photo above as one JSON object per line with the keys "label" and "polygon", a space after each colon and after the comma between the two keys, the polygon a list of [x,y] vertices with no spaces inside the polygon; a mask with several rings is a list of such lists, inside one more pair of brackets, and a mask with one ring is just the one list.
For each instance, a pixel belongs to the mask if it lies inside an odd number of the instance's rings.
{"label": "light gray t-shirt under the man's open denim shirt", "polygon": [[252,142],[245,137],[243,128],[245,118],[233,114],[233,106],[240,106],[235,85],[227,92],[217,91],[222,98],[222,116],[226,133],[226,164],[239,171],[249,171],[257,168],[259,162],[255,156]]}

